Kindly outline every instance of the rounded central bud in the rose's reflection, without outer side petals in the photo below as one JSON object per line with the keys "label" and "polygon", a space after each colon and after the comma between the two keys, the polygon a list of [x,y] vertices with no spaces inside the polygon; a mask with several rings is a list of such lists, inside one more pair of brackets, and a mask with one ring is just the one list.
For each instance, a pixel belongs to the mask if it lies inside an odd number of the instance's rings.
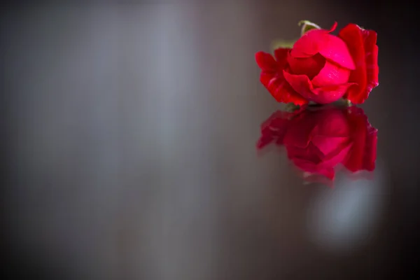
{"label": "rounded central bud in the rose's reflection, without outer side petals", "polygon": [[344,162],[351,149],[351,131],[341,109],[324,108],[293,118],[283,143],[297,167],[333,179],[334,167]]}

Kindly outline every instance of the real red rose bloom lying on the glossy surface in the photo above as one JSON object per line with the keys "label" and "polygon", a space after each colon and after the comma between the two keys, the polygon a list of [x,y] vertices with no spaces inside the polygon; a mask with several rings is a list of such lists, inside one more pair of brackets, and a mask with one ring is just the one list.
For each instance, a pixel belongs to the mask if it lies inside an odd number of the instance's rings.
{"label": "real red rose bloom lying on the glossy surface", "polygon": [[376,32],[350,24],[334,36],[336,27],[311,29],[274,57],[255,54],[260,81],[278,102],[328,104],[344,97],[360,104],[379,84]]}

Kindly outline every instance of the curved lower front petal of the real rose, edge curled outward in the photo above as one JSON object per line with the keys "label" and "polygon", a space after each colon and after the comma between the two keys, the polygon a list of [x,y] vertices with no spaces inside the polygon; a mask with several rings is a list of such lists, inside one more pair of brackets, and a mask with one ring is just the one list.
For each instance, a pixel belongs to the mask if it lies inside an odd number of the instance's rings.
{"label": "curved lower front petal of the real rose, edge curled outward", "polygon": [[318,104],[329,104],[340,99],[352,83],[342,85],[328,85],[325,87],[314,88],[311,80],[304,75],[293,75],[283,71],[283,76],[302,97]]}

